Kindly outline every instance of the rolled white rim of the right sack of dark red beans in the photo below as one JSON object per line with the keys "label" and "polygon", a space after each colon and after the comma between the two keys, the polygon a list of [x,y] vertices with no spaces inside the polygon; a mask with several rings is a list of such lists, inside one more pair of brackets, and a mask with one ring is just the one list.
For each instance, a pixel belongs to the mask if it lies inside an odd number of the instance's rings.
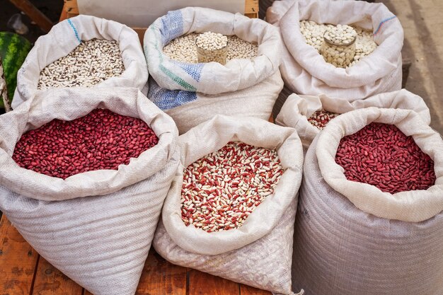
{"label": "rolled white rim of the right sack of dark red beans", "polygon": [[[435,185],[427,190],[391,194],[374,185],[347,180],[344,169],[335,163],[340,140],[371,122],[396,125],[406,136],[412,136],[420,149],[434,161]],[[413,127],[410,122],[413,122]],[[355,132],[350,133],[350,129]],[[326,183],[363,212],[384,219],[420,222],[443,211],[443,139],[413,110],[372,107],[340,115],[318,135],[316,156]]]}

